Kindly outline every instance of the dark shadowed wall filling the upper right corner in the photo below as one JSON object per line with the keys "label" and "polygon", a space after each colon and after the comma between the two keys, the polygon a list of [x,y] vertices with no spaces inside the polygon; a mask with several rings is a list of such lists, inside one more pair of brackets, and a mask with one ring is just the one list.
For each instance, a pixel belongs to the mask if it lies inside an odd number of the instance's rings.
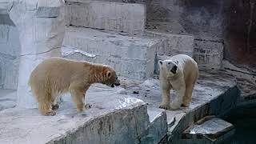
{"label": "dark shadowed wall filling the upper right corner", "polygon": [[255,0],[149,0],[147,21],[176,21],[196,39],[224,40],[226,59],[256,65]]}

